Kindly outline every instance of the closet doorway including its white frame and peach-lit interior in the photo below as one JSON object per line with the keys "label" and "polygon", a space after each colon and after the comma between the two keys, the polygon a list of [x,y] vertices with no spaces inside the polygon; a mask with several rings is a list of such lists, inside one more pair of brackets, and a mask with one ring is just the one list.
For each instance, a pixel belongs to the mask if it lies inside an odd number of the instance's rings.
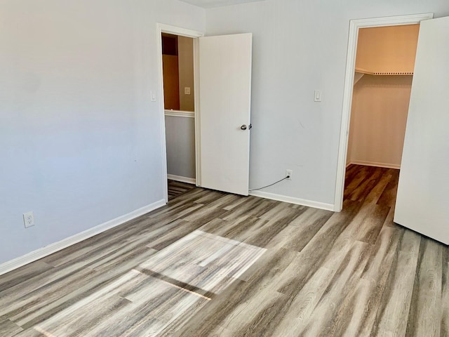
{"label": "closet doorway including its white frame and peach-lit interior", "polygon": [[335,211],[343,199],[366,197],[380,179],[387,199],[396,197],[417,33],[420,21],[432,17],[351,20]]}

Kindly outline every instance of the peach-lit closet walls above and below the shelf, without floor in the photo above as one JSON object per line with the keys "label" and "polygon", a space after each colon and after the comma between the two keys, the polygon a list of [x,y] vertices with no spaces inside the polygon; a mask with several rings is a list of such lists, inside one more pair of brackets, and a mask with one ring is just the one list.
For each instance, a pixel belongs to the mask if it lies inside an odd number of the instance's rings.
{"label": "peach-lit closet walls above and below the shelf, without floor", "polygon": [[359,29],[348,165],[401,167],[418,32],[419,25]]}

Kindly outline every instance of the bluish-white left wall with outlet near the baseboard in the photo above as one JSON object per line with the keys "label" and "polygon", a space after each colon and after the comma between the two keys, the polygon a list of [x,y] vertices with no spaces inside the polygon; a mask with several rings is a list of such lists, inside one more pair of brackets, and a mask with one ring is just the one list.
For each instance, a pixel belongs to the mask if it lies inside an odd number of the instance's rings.
{"label": "bluish-white left wall with outlet near the baseboard", "polygon": [[163,199],[156,22],[204,30],[205,11],[0,2],[0,263]]}

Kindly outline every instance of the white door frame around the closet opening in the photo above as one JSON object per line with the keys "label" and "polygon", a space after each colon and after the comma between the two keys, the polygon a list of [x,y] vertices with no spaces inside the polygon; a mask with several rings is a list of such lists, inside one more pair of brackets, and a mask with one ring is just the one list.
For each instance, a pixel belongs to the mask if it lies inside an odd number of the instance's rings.
{"label": "white door frame around the closet opening", "polygon": [[354,89],[353,84],[354,71],[356,68],[358,29],[366,27],[413,25],[420,23],[422,20],[429,20],[432,18],[434,18],[433,13],[424,13],[415,15],[389,16],[385,18],[358,19],[351,20],[349,22],[348,52],[346,60],[346,74],[344,76],[342,122],[340,125],[340,143],[338,145],[334,211],[340,212],[343,208],[344,176],[346,172],[349,121],[351,120],[352,91]]}

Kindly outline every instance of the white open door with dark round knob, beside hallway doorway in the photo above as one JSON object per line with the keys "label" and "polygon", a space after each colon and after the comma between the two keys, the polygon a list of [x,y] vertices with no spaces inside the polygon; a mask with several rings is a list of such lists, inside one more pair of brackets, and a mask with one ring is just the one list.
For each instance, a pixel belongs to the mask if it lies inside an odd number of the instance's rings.
{"label": "white open door with dark round knob, beside hallway doorway", "polygon": [[252,34],[199,39],[199,185],[248,195]]}

